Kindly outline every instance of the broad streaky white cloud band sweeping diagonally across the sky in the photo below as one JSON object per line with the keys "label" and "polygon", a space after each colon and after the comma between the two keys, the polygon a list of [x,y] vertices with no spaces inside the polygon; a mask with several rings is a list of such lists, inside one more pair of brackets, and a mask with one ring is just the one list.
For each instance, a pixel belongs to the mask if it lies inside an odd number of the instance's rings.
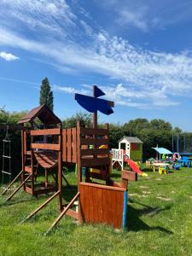
{"label": "broad streaky white cloud band sweeping diagonally across the sky", "polygon": [[[137,48],[122,38],[111,38],[108,32],[96,31],[85,20],[79,22],[64,0],[3,0],[0,3],[2,8],[8,5],[11,12],[7,19],[3,16],[3,22],[8,23],[0,26],[0,45],[35,53],[64,73],[102,75],[108,81],[106,84],[112,84],[102,86],[108,99],[124,106],[165,108],[176,106],[183,96],[192,97],[192,54],[189,51],[158,53]],[[15,33],[10,29],[9,21],[13,23],[13,20],[20,20],[25,32]],[[26,38],[26,32],[31,32],[30,38]],[[59,85],[54,89],[65,93],[89,91]]]}

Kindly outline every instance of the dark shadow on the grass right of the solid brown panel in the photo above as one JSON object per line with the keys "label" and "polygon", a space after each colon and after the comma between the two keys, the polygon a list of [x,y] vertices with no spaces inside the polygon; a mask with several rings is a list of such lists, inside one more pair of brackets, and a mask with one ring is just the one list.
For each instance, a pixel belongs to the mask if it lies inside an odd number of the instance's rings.
{"label": "dark shadow on the grass right of the solid brown panel", "polygon": [[[131,201],[131,200],[130,200]],[[136,201],[131,201],[135,202]],[[140,204],[140,203],[139,203]],[[167,230],[160,226],[149,226],[148,224],[144,223],[143,220],[140,218],[142,215],[148,215],[150,217],[153,217],[154,215],[169,210],[171,207],[165,207],[165,208],[158,208],[158,207],[148,207],[147,205],[140,204],[143,206],[142,209],[136,209],[132,206],[127,206],[127,218],[126,218],[126,229],[129,231],[140,231],[140,230],[158,230],[161,232],[164,232],[166,234],[173,234],[172,231]]]}

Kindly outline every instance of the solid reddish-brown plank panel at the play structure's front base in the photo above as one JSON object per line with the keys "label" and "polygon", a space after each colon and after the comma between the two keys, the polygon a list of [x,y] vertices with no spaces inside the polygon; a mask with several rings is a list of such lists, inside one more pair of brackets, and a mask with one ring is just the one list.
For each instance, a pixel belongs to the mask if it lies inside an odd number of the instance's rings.
{"label": "solid reddish-brown plank panel at the play structure's front base", "polygon": [[122,227],[125,189],[94,183],[80,183],[79,189],[79,214],[85,223],[105,223],[118,229]]}

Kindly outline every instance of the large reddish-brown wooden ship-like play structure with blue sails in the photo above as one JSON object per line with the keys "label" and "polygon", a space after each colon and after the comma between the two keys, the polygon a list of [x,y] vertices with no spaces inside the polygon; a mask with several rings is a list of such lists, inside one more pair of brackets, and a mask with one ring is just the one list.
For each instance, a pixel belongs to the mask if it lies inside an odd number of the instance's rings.
{"label": "large reddish-brown wooden ship-like play structure with blue sails", "polygon": [[[118,229],[125,227],[128,181],[136,181],[137,173],[122,171],[120,183],[113,182],[110,178],[109,129],[108,124],[103,128],[97,127],[97,110],[107,114],[113,113],[113,102],[98,98],[102,95],[104,95],[102,90],[94,86],[93,97],[77,94],[75,96],[81,106],[93,113],[93,127],[83,127],[79,121],[76,127],[61,129],[61,120],[45,105],[33,109],[20,119],[22,171],[15,180],[21,177],[21,182],[20,186],[9,195],[8,200],[20,188],[31,195],[54,192],[24,221],[32,218],[50,201],[58,197],[60,214],[49,230],[55,227],[65,214],[79,220],[80,223],[105,223]],[[91,101],[93,104],[90,107]],[[36,118],[41,120],[44,129],[33,129],[33,121]],[[30,130],[25,130],[26,122],[31,124]],[[105,146],[101,147],[102,145]],[[65,193],[65,189],[62,191],[62,181],[64,179],[67,182],[63,167],[70,165],[77,165],[78,192],[68,205],[63,205],[62,192]],[[84,178],[82,168],[85,169]],[[91,172],[91,169],[99,172]],[[38,172],[44,172],[44,183],[37,183]],[[54,177],[55,184],[49,183],[49,175]],[[9,187],[3,191],[3,194]],[[72,207],[77,200],[78,211],[75,211]]]}

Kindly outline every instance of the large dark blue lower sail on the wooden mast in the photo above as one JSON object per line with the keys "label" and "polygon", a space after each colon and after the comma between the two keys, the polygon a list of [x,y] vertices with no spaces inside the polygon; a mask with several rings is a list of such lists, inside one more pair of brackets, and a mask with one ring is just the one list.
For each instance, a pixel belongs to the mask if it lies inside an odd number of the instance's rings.
{"label": "large dark blue lower sail on the wooden mast", "polygon": [[[97,91],[97,92],[98,92],[98,94],[97,94],[98,96],[99,95],[102,96],[101,95],[102,90],[101,90],[101,92],[99,92],[99,91]],[[98,98],[91,97],[91,96],[84,96],[84,95],[81,95],[78,93],[75,94],[75,100],[79,103],[79,105],[81,105],[81,107],[83,107],[90,113],[94,113],[98,110],[105,114],[113,113],[113,109],[109,106],[109,102],[106,100],[98,99]]]}

